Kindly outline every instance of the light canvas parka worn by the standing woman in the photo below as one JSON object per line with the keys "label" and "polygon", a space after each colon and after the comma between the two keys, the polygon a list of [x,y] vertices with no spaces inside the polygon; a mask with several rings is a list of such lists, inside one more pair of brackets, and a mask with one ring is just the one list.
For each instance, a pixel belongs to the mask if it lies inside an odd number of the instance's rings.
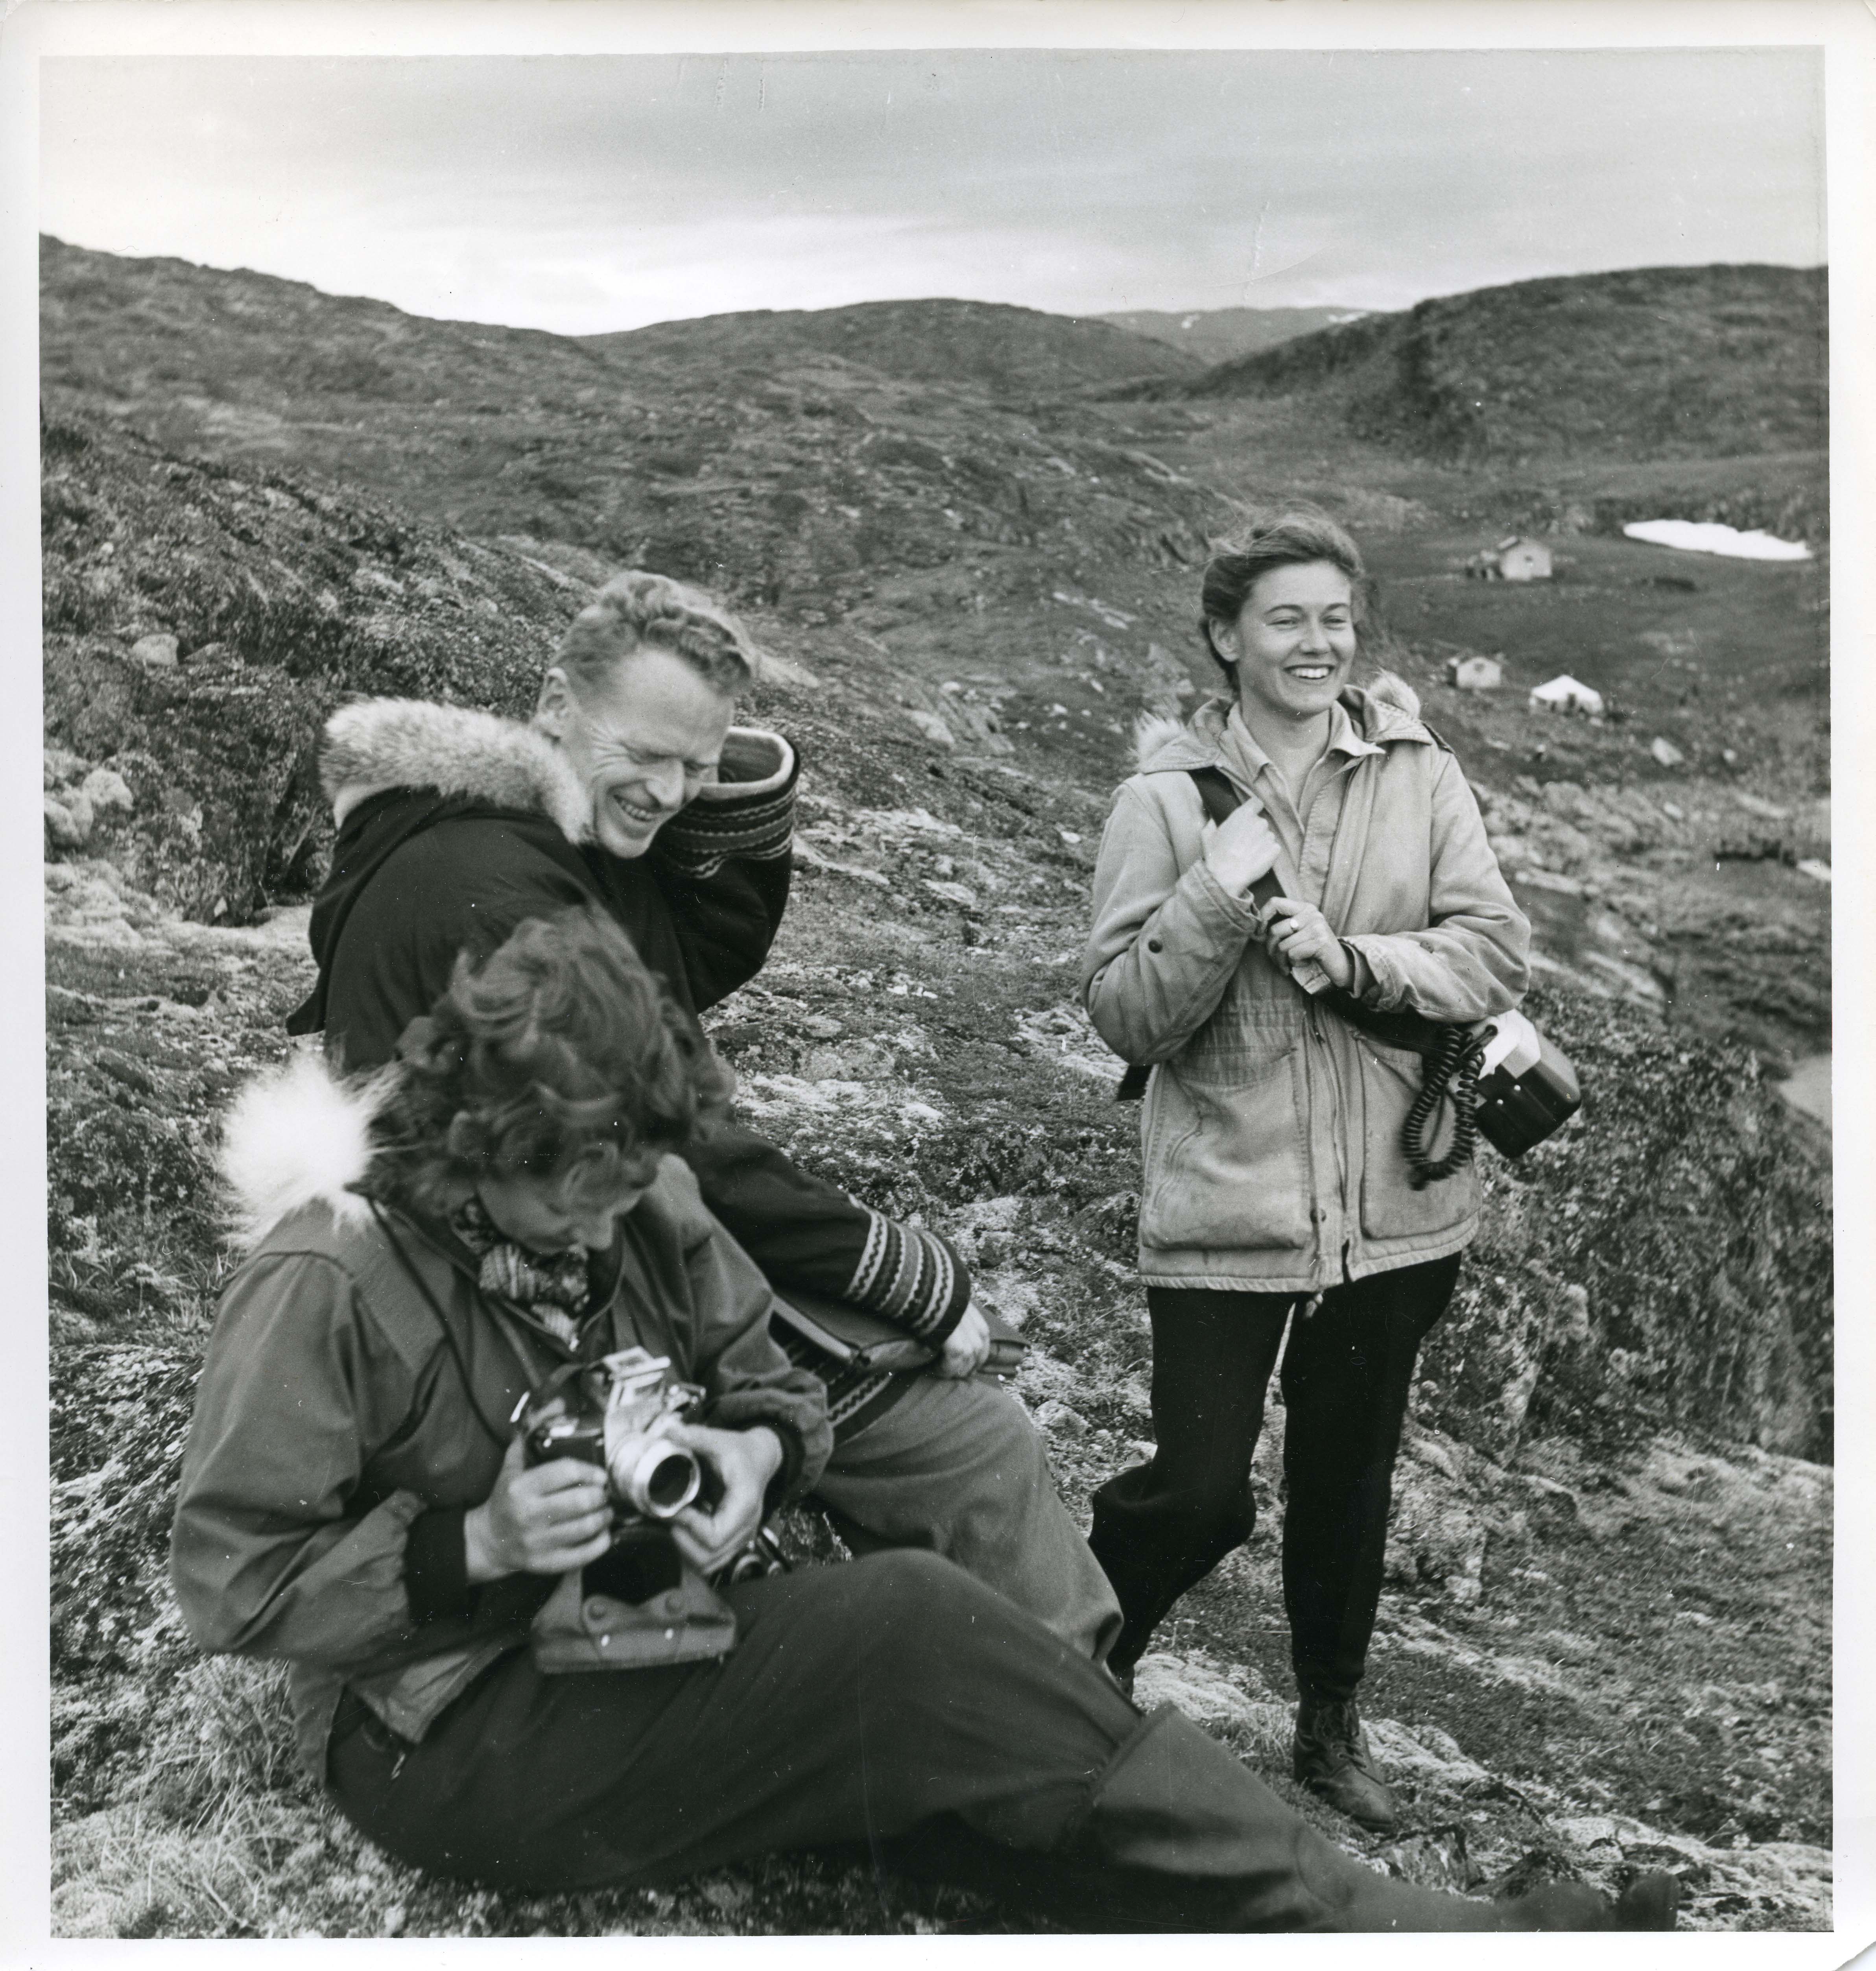
{"label": "light canvas parka worn by the standing woman", "polygon": [[[1368,1001],[1439,1021],[1513,1007],[1529,924],[1452,753],[1399,678],[1346,690],[1366,745],[1332,755],[1342,814],[1318,883],[1285,855],[1368,970]],[[1214,826],[1190,769],[1224,769],[1228,700],[1188,725],[1143,721],[1139,773],[1102,834],[1082,997],[1102,1039],[1153,1062],[1141,1112],[1139,1269],[1149,1287],[1316,1293],[1458,1252],[1478,1224],[1468,1167],[1415,1190],[1401,1123],[1419,1054],[1383,1047],[1265,952],[1257,911],[1206,865]],[[1305,816],[1306,822],[1306,816]]]}

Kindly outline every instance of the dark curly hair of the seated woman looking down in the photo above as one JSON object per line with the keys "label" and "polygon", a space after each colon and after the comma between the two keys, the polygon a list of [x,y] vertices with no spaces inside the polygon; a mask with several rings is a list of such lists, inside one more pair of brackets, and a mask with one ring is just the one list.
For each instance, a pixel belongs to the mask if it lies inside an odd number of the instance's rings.
{"label": "dark curly hair of the seated woman looking down", "polygon": [[729,1100],[702,1027],[601,911],[518,924],[398,1041],[374,1189],[436,1210],[463,1179],[571,1177],[601,1198]]}

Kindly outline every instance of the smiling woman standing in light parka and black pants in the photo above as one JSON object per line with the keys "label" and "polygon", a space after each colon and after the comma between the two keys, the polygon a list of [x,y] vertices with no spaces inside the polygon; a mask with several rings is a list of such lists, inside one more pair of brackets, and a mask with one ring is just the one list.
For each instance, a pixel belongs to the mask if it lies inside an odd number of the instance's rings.
{"label": "smiling woman standing in light parka and black pants", "polygon": [[[1172,1602],[1251,1535],[1251,1453],[1285,1326],[1283,1593],[1299,1780],[1395,1825],[1356,1713],[1393,1461],[1427,1330],[1478,1226],[1470,1167],[1417,1189],[1401,1121],[1417,1054],[1318,1007],[1476,1021],[1517,1003],[1529,926],[1458,761],[1391,676],[1350,684],[1362,556],[1324,514],[1253,526],[1204,572],[1202,635],[1230,680],[1145,723],[1094,877],[1082,991],[1153,1064],[1139,1267],[1153,1321],[1151,1464],[1094,1500],[1125,1671]],[[1206,820],[1194,769],[1241,798]],[[1283,897],[1259,911],[1251,885]]]}

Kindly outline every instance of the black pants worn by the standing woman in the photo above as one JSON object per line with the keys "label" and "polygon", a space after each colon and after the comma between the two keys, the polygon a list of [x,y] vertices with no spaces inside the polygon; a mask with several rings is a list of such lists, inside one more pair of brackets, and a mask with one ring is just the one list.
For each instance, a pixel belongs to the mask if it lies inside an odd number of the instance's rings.
{"label": "black pants worn by the standing woman", "polygon": [[1308,1697],[1352,1697],[1368,1660],[1393,1461],[1421,1340],[1452,1299],[1458,1254],[1330,1287],[1310,1315],[1293,1293],[1147,1289],[1153,1319],[1151,1464],[1094,1494],[1090,1545],[1121,1600],[1109,1664],[1129,1667],[1161,1616],[1251,1537],[1251,1453],[1283,1356],[1283,1600]]}

